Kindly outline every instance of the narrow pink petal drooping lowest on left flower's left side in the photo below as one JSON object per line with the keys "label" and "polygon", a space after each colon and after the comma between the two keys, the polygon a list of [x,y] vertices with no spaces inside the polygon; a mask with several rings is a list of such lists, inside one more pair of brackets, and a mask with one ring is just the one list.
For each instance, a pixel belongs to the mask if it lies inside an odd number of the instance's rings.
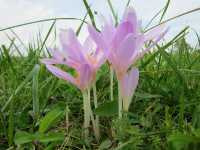
{"label": "narrow pink petal drooping lowest on left flower's left side", "polygon": [[67,73],[53,65],[46,65],[46,67],[52,74],[54,74],[58,78],[63,79],[65,81],[69,81],[70,83],[77,86],[76,80],[69,73]]}

